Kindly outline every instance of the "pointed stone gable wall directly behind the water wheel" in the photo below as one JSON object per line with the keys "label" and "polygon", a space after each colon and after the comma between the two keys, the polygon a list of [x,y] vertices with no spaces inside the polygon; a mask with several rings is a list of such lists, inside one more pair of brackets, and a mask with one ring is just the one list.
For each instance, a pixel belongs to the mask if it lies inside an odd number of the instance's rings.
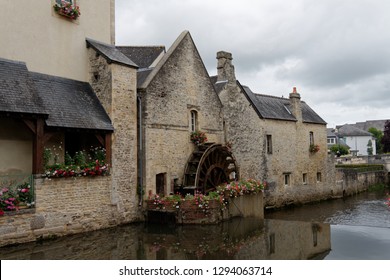
{"label": "pointed stone gable wall directly behind the water wheel", "polygon": [[198,129],[209,142],[223,143],[222,104],[189,33],[142,93],[144,128],[144,186],[156,193],[156,174],[165,174],[165,194],[173,181],[183,182],[194,150],[190,142],[190,111],[197,112]]}

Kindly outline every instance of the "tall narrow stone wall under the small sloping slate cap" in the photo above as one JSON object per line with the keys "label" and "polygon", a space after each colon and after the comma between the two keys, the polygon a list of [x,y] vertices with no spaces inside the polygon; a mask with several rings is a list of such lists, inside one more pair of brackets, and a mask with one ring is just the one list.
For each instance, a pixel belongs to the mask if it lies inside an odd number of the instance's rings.
{"label": "tall narrow stone wall under the small sloping slate cap", "polygon": [[108,63],[88,49],[90,84],[114,126],[111,137],[110,199],[122,214],[122,222],[140,217],[137,196],[137,70]]}

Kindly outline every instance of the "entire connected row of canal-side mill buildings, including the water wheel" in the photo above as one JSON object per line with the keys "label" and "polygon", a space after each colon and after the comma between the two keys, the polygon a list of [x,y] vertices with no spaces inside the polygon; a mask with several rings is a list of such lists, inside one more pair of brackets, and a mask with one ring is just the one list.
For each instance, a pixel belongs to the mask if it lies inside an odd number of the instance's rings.
{"label": "entire connected row of canal-side mill buildings, including the water wheel", "polygon": [[[35,207],[0,216],[0,246],[142,220],[148,196],[239,178],[266,180],[269,206],[329,196],[326,125],[295,89],[254,94],[226,52],[210,77],[188,31],[168,51],[117,47],[113,0],[67,1],[77,19],[38,2],[3,6],[0,175],[33,175]],[[191,142],[196,131],[207,143]],[[60,163],[104,148],[109,176],[42,178],[53,146]]]}

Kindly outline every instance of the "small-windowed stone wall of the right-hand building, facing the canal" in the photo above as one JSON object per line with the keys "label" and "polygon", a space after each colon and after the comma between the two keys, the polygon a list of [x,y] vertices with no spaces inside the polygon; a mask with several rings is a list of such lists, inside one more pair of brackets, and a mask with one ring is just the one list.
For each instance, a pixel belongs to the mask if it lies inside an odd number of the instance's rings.
{"label": "small-windowed stone wall of the right-hand building, facing the canal", "polygon": [[[313,132],[314,143],[320,146],[316,153],[309,152],[310,132]],[[268,188],[265,204],[268,207],[331,196],[334,177],[328,176],[331,165],[328,165],[324,125],[267,120],[265,133],[272,135],[272,154],[266,155]],[[290,178],[287,185],[284,181],[286,174]]]}

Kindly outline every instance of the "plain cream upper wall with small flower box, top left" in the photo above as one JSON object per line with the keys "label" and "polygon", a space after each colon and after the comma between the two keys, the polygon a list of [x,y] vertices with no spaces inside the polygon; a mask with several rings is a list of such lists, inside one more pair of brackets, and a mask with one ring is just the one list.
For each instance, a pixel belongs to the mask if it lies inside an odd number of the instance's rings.
{"label": "plain cream upper wall with small flower box, top left", "polygon": [[114,43],[114,0],[76,0],[81,15],[69,20],[54,0],[2,1],[0,57],[30,71],[87,81],[86,38]]}

